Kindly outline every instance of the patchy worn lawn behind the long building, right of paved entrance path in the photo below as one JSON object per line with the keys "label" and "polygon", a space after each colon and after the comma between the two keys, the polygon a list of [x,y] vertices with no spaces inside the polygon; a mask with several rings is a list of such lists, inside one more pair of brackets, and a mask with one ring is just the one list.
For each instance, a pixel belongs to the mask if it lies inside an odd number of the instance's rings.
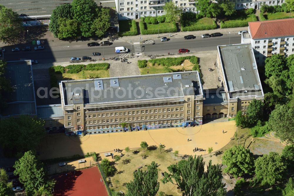
{"label": "patchy worn lawn behind the long building, right of paved entrance path", "polygon": [[[182,65],[176,65],[176,66],[171,66],[169,67],[175,71],[181,72],[181,71],[192,71],[193,64],[190,62],[190,60],[186,59],[183,62]],[[155,64],[154,66],[151,65],[150,62],[147,62],[147,67],[144,68],[139,68],[140,69],[140,74],[145,75],[147,74],[147,71],[149,71],[148,74],[161,74],[161,73],[166,73],[166,69],[164,69],[163,66]]]}

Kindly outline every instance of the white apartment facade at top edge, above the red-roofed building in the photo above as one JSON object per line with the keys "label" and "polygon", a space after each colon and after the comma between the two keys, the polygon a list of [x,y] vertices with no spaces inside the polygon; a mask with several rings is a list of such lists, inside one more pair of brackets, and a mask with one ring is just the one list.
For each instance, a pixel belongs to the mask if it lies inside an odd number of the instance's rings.
{"label": "white apartment facade at top edge, above the red-roofed building", "polygon": [[284,0],[265,1],[265,0],[231,0],[235,3],[235,9],[260,9],[261,5],[267,4],[269,6],[282,5]]}

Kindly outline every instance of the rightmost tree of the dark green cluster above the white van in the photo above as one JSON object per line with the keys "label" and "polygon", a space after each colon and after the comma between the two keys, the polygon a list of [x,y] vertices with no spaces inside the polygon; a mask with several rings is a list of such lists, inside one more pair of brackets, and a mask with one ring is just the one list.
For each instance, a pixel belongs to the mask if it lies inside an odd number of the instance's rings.
{"label": "rightmost tree of the dark green cluster above the white van", "polygon": [[91,31],[98,37],[105,34],[110,27],[110,14],[109,9],[101,8],[98,12],[98,18],[93,21]]}

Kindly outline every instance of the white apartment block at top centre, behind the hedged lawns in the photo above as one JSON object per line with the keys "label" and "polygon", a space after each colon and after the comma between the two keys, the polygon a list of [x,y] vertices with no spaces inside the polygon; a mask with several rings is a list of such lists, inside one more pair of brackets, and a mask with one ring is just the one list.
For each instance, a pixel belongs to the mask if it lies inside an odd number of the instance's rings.
{"label": "white apartment block at top centre, behind the hedged lawns", "polygon": [[116,11],[119,20],[140,19],[145,16],[164,15],[163,6],[173,1],[177,6],[182,7],[183,11],[197,12],[195,7],[196,0],[116,0]]}

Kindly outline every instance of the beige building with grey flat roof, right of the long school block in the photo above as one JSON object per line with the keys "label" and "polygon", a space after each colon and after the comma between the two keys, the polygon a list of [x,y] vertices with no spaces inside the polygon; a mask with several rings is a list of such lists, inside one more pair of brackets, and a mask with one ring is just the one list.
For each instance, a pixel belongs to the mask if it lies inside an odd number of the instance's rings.
{"label": "beige building with grey flat roof, right of the long school block", "polygon": [[[223,101],[220,101],[223,107],[228,108],[228,117],[234,117],[238,110],[246,114],[253,99],[263,100],[263,89],[250,44],[218,46],[217,69],[225,93]],[[206,111],[205,106],[203,111]]]}

